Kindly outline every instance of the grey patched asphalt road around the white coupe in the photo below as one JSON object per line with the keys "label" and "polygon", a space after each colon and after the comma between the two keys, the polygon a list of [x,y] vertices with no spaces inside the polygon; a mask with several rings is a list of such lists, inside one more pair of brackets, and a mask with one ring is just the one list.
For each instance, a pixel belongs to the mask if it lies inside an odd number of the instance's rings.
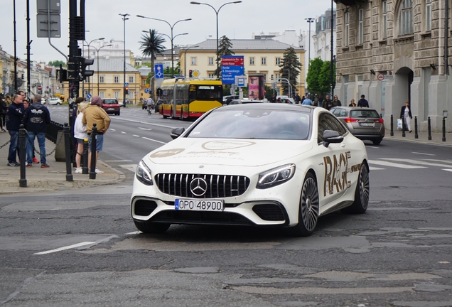
{"label": "grey patched asphalt road around the white coupe", "polygon": [[[124,110],[100,158],[125,173],[188,124]],[[307,238],[186,225],[144,235],[129,181],[2,196],[0,304],[452,306],[451,149],[384,140],[367,153],[367,212],[321,217]]]}

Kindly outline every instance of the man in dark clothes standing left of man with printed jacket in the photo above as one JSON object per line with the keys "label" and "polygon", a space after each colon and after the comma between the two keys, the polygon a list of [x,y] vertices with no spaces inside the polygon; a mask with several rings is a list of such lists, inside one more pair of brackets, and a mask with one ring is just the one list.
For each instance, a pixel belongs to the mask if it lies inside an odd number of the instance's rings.
{"label": "man in dark clothes standing left of man with printed jacket", "polygon": [[18,152],[18,131],[23,119],[22,95],[15,94],[14,100],[9,104],[8,112],[6,112],[6,129],[9,132],[9,153],[8,166],[20,166],[16,160]]}

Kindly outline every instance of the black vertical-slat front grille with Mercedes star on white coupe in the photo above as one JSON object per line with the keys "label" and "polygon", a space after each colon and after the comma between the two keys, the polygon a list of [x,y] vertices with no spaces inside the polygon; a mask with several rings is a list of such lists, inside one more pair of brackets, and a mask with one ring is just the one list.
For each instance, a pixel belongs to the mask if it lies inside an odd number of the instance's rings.
{"label": "black vertical-slat front grille with Mercedes star on white coupe", "polygon": [[[190,183],[195,178],[203,178],[207,188],[203,195],[195,195]],[[154,177],[158,190],[162,193],[186,198],[226,198],[242,195],[249,186],[249,178],[237,175],[199,175],[159,173]]]}

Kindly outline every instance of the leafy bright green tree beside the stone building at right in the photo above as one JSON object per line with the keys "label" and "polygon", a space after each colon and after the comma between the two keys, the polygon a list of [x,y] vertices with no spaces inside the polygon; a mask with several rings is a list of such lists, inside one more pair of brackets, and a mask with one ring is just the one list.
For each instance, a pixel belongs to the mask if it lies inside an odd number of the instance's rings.
{"label": "leafy bright green tree beside the stone building at right", "polygon": [[[308,92],[318,95],[330,93],[331,66],[330,61],[323,61],[321,58],[311,60],[306,82]],[[335,63],[333,63],[333,88],[335,87]]]}

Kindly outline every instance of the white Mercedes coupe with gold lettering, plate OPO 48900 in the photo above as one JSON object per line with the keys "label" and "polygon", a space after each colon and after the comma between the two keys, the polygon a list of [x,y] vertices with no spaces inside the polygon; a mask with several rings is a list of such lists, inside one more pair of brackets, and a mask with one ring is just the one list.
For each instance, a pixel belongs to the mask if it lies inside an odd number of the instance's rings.
{"label": "white Mercedes coupe with gold lettering, plate OPO 48900", "polygon": [[171,137],[136,168],[131,216],[141,232],[248,225],[308,236],[321,215],[367,210],[365,146],[321,107],[219,107]]}

